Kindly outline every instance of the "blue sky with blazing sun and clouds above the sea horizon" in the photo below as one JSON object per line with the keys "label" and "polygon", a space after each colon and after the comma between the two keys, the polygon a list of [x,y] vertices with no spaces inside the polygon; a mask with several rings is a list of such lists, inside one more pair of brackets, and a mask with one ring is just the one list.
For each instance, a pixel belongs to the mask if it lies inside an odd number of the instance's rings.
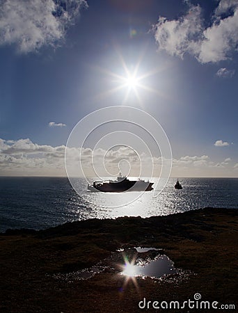
{"label": "blue sky with blazing sun and clouds above the sea horizon", "polygon": [[[172,177],[237,177],[237,49],[237,0],[0,0],[0,175],[65,176],[75,125],[129,106],[164,129]],[[148,160],[159,173],[141,129],[150,153],[121,133],[108,151],[100,139],[119,126],[68,147],[72,162],[80,151],[86,168],[94,149],[112,175],[122,160],[127,174]]]}

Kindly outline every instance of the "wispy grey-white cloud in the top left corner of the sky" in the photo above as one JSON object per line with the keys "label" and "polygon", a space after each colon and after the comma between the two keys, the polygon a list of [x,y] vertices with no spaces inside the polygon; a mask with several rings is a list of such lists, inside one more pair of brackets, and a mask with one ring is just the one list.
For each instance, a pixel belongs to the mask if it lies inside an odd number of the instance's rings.
{"label": "wispy grey-white cloud in the top left corner of the sky", "polygon": [[84,0],[2,0],[0,44],[15,44],[20,53],[37,51],[63,40]]}

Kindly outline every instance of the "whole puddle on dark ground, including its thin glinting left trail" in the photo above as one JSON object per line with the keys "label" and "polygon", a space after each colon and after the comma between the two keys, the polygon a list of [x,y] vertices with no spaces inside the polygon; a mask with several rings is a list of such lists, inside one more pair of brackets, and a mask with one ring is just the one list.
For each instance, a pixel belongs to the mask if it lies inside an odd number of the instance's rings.
{"label": "whole puddle on dark ground, including its thin glinting left trail", "polygon": [[[143,248],[141,246],[129,249],[120,248],[117,252],[113,252],[111,257],[102,260],[95,266],[71,273],[58,273],[54,275],[54,278],[67,282],[88,280],[105,270],[109,273],[118,273],[127,277],[156,279],[173,278],[172,274],[183,275],[184,272],[180,268],[175,268],[173,261],[162,254],[162,251],[158,248]],[[129,262],[128,259],[132,261]],[[121,270],[118,271],[118,268]]]}

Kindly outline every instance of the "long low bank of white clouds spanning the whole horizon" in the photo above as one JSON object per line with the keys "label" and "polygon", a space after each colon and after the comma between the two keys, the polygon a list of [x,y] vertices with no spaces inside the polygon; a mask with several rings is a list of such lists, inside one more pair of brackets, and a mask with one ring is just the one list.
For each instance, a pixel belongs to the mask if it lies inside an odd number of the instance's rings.
{"label": "long low bank of white clouds spanning the whole horizon", "polygon": [[[79,175],[83,175],[79,161],[84,173],[94,177],[95,170],[102,177],[117,175],[118,164],[123,174],[130,170],[130,175],[136,177],[140,175],[150,177],[152,165],[154,176],[158,176],[161,170],[161,157],[151,157],[145,153],[137,155],[129,147],[120,147],[107,152],[102,148],[92,150],[89,147],[80,149],[65,147],[65,145],[56,147],[38,145],[29,138],[18,141],[5,141],[0,138],[0,175],[65,176],[66,149],[70,171],[77,172]],[[80,155],[81,159],[79,159]],[[222,177],[235,176],[237,168],[238,163],[230,158],[217,163],[207,155],[186,155],[180,159],[173,159],[172,173],[176,177]]]}

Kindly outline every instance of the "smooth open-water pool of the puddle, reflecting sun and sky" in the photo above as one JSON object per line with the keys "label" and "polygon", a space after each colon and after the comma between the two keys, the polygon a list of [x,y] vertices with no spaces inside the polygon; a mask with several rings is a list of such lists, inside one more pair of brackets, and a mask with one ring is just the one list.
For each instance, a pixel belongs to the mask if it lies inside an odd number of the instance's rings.
{"label": "smooth open-water pool of the puddle, reflecting sun and sky", "polygon": [[126,263],[125,269],[121,272],[121,275],[142,278],[161,278],[163,275],[175,273],[178,273],[178,270],[173,266],[173,262],[166,255],[159,255],[150,261],[142,261],[139,259],[136,264]]}

